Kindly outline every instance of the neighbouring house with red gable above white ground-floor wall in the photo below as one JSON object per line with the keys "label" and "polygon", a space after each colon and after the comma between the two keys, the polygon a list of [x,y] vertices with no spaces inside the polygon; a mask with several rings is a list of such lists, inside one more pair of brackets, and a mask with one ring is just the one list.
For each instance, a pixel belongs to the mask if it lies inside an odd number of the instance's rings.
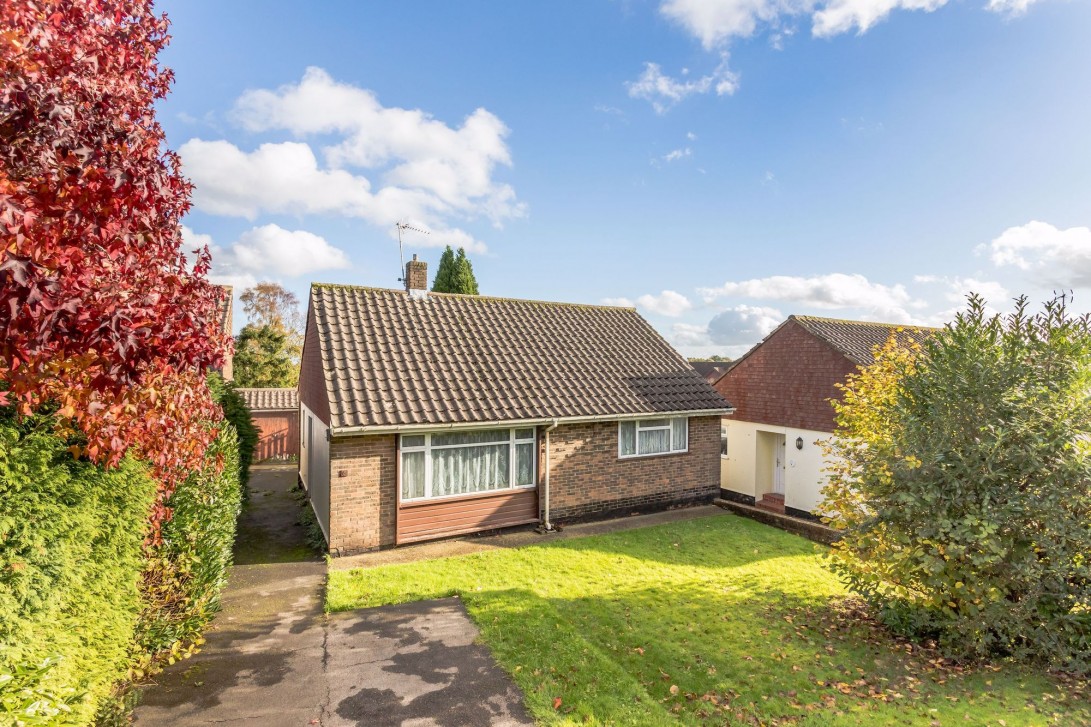
{"label": "neighbouring house with red gable above white ground-floor wall", "polygon": [[723,497],[812,516],[826,482],[818,442],[834,432],[837,384],[874,361],[891,335],[933,329],[791,315],[716,381],[735,407],[720,432]]}

